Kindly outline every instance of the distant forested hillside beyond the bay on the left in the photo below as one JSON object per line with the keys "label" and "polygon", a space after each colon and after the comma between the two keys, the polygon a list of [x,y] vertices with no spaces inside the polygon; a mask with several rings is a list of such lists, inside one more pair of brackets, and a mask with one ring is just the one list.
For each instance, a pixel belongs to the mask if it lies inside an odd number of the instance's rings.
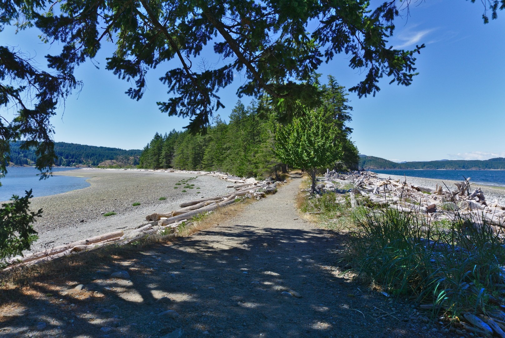
{"label": "distant forested hillside beyond the bay on the left", "polygon": [[[18,142],[11,142],[10,161],[15,165],[31,165],[35,162],[34,149],[22,150]],[[101,162],[113,160],[116,166],[135,166],[142,153],[139,149],[96,147],[76,143],[55,142],[58,156],[56,165],[74,166],[79,164],[97,166]]]}

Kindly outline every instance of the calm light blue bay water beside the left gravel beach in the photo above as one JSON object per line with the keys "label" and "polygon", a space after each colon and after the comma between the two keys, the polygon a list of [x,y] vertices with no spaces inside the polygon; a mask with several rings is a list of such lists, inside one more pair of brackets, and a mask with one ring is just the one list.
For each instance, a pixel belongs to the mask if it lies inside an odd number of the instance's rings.
{"label": "calm light blue bay water beside the left gravel beach", "polygon": [[[68,171],[75,168],[53,168],[53,172]],[[38,170],[33,167],[8,167],[7,175],[0,179],[0,201],[9,200],[13,194],[25,196],[25,190],[33,189],[34,197],[61,194],[70,190],[89,187],[86,177],[53,176],[39,181]]]}

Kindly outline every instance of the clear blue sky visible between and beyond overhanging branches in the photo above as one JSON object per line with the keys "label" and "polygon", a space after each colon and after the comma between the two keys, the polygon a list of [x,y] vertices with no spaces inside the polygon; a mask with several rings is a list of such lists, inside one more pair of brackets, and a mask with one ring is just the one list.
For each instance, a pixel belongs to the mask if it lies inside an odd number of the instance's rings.
{"label": "clear blue sky visible between and beyond overhanging branches", "polygon": [[[420,74],[409,87],[388,85],[384,78],[375,97],[359,99],[350,93],[354,111],[349,125],[360,153],[395,161],[505,157],[505,11],[486,25],[482,13],[480,2],[463,0],[413,2],[410,16],[402,13],[389,41],[405,49],[426,44],[416,62]],[[58,49],[40,44],[36,31],[12,32],[0,33],[2,45],[28,51],[40,63],[43,55]],[[124,94],[129,83],[105,69],[112,51],[112,46],[105,47],[94,63],[77,69],[84,87],[53,118],[56,141],[141,149],[156,132],[181,130],[189,122],[168,117],[156,105],[167,98],[158,77],[168,68],[150,71],[147,92],[133,101]],[[212,53],[201,60],[222,62]],[[350,88],[364,74],[347,64],[341,55],[319,72],[323,78],[334,75]],[[237,74],[235,83],[240,81]],[[235,91],[236,87],[220,93],[226,108],[218,113],[225,119],[238,99]],[[242,101],[247,104],[249,98]],[[2,115],[9,118],[13,112]]]}

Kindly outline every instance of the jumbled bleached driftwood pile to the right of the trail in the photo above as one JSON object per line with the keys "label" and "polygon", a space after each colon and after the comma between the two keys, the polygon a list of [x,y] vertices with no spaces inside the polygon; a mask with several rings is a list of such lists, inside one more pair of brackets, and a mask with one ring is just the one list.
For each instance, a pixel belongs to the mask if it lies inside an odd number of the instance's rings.
{"label": "jumbled bleached driftwood pile to the right of the trail", "polygon": [[[456,188],[451,190],[446,185],[432,189],[409,184],[407,179],[380,179],[371,172],[335,176],[334,172],[327,173],[316,187],[319,191],[342,192],[339,187],[351,186],[345,191],[368,197],[374,204],[418,212],[430,221],[462,217],[473,220],[476,226],[487,224],[495,232],[505,231],[505,206],[498,201],[486,202],[480,188],[470,188],[470,178],[455,183]],[[345,202],[343,196],[338,200]]]}

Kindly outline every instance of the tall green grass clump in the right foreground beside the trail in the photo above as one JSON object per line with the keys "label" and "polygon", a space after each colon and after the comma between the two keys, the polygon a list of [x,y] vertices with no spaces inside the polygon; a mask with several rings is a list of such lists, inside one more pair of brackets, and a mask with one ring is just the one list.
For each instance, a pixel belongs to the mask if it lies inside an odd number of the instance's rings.
{"label": "tall green grass clump in the right foreground beside the trail", "polygon": [[344,260],[365,280],[433,312],[486,313],[505,300],[503,239],[478,220],[437,227],[416,213],[384,209],[357,220]]}

